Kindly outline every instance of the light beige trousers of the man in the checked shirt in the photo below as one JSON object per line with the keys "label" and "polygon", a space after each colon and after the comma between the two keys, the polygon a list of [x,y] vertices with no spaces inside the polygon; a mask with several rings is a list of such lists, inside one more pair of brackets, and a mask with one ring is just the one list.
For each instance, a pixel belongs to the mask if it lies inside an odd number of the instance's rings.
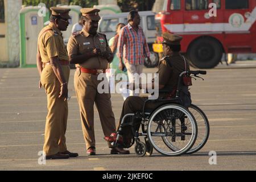
{"label": "light beige trousers of the man in the checked shirt", "polygon": [[[134,74],[138,73],[141,75],[143,70],[143,64],[133,65],[128,62],[125,63],[125,67],[127,69],[127,75],[130,83],[134,83]],[[129,90],[130,96],[139,96],[139,93],[135,93],[133,90]]]}

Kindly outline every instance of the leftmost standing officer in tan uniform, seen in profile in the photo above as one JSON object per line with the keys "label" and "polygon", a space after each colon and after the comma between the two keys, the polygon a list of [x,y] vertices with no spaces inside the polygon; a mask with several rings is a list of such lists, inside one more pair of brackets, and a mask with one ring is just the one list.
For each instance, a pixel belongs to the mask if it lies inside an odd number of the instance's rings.
{"label": "leftmost standing officer in tan uniform, seen in profile", "polygon": [[70,9],[51,7],[50,23],[38,36],[37,65],[40,74],[39,88],[47,94],[48,114],[44,147],[46,159],[67,159],[78,156],[67,150],[65,132],[68,119],[69,59],[61,31],[68,27]]}

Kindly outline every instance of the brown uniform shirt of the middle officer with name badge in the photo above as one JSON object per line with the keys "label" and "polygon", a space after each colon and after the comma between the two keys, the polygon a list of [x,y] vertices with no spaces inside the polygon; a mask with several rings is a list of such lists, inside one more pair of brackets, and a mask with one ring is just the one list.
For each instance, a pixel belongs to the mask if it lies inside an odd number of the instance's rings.
{"label": "brown uniform shirt of the middle officer with name badge", "polygon": [[[71,36],[68,41],[68,55],[70,57],[82,55],[88,51],[92,52],[94,48],[101,49],[101,52],[108,51],[112,53],[104,34],[96,33],[90,35],[84,29],[76,36]],[[85,60],[82,64],[76,64],[76,67],[83,67],[87,69],[106,69],[108,68],[108,60],[102,56],[91,57]]]}

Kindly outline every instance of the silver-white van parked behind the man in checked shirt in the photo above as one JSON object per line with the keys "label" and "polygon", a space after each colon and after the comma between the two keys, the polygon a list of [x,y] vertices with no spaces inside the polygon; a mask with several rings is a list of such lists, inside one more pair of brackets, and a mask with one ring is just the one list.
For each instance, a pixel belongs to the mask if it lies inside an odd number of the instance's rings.
{"label": "silver-white van parked behind the man in checked shirt", "polygon": [[[110,15],[102,15],[101,20],[99,22],[98,31],[106,34],[107,39],[109,40],[115,35],[115,27],[118,23],[127,24],[127,15],[129,13],[118,13],[118,14],[110,14]],[[152,44],[156,39],[156,28],[155,28],[155,14],[152,11],[139,11],[139,15],[141,16],[141,24],[140,26],[143,29],[143,32],[146,36],[146,40],[148,43],[148,47],[150,48],[150,59],[152,61],[152,65],[147,64],[147,60],[145,60],[146,67],[156,67],[159,63],[158,53],[154,52],[152,49]]]}

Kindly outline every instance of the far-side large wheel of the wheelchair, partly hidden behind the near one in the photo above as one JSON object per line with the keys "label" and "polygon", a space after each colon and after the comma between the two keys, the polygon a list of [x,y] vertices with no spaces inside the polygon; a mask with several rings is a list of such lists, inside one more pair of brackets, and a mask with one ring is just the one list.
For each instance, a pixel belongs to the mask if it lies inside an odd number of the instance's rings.
{"label": "far-side large wheel of the wheelchair, partly hidden behind the near one", "polygon": [[207,116],[199,107],[191,104],[191,106],[188,107],[188,110],[191,111],[191,113],[195,117],[197,124],[196,142],[193,147],[187,152],[187,154],[193,154],[203,148],[205,143],[207,143],[210,133],[210,126]]}

